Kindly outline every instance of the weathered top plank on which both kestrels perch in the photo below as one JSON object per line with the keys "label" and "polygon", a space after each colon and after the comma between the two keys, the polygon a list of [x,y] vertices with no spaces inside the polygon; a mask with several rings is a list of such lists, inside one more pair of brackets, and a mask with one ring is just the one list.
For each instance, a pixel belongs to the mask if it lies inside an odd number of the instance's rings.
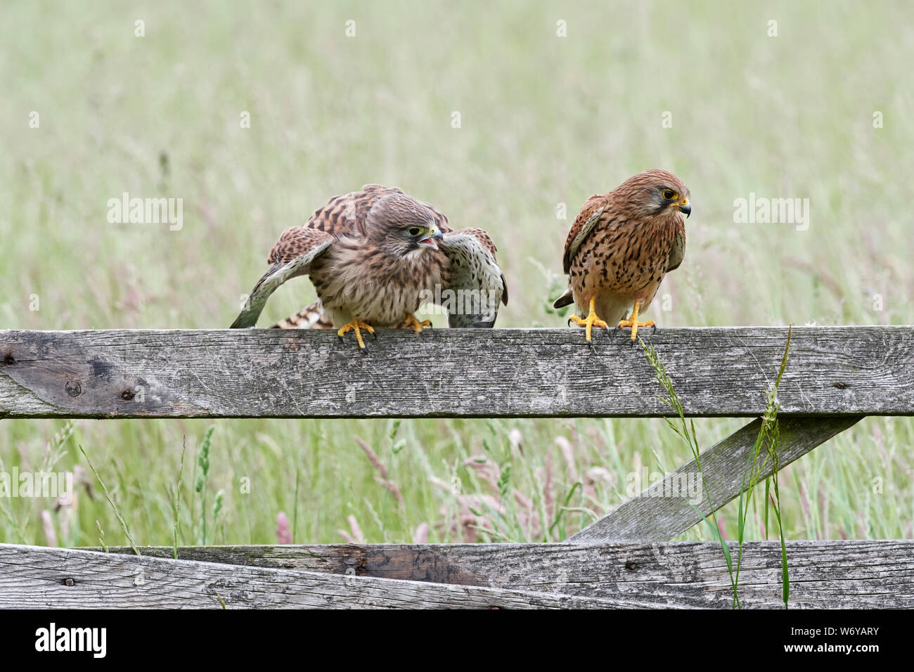
{"label": "weathered top plank on which both kestrels perch", "polygon": [[[764,411],[786,327],[661,329],[685,411]],[[0,417],[582,417],[670,410],[618,332],[0,331]],[[781,414],[914,414],[914,327],[797,327]]]}

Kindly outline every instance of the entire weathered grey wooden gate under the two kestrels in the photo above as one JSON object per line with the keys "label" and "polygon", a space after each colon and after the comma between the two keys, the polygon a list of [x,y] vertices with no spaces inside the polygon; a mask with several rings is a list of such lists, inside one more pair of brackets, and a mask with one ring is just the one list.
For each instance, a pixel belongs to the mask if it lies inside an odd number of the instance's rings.
{"label": "entire weathered grey wooden gate under the two kestrels", "polygon": [[[644,336],[687,415],[753,417],[787,328]],[[588,347],[576,329],[380,330],[362,353],[324,331],[0,331],[0,419],[651,417],[671,412],[661,391],[621,333]],[[866,415],[914,414],[914,327],[794,328],[778,400],[781,467]],[[702,454],[714,507],[739,496],[759,425]],[[669,542],[707,502],[655,496],[695,471],[563,544],[207,547],[179,560],[0,545],[0,607],[729,606],[719,545]],[[910,540],[793,541],[788,556],[792,606],[914,606]],[[781,606],[780,562],[779,544],[744,547],[745,606]]]}

